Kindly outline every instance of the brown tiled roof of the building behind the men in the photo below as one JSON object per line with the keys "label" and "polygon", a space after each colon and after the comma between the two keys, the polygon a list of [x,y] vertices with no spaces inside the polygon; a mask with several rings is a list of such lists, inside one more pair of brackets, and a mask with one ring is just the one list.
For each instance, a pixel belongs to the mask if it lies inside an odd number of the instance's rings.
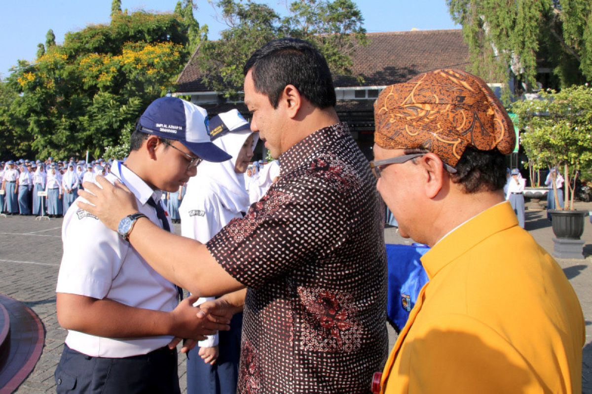
{"label": "brown tiled roof of the building behind the men", "polygon": [[[360,86],[357,75],[364,78],[364,86],[381,86],[404,82],[424,71],[468,66],[469,49],[462,30],[369,33],[368,39],[368,45],[353,53],[354,76],[336,76],[336,87]],[[176,91],[208,90],[201,81],[194,54],[177,80]]]}

